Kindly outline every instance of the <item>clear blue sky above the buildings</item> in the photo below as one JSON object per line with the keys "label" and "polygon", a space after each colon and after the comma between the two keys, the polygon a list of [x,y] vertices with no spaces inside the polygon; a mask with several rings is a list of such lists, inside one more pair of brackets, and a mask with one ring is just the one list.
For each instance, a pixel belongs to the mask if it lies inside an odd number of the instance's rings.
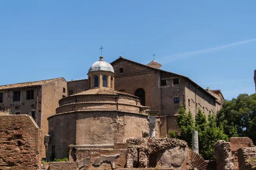
{"label": "clear blue sky above the buildings", "polygon": [[0,0],[0,85],[87,78],[119,55],[182,74],[225,99],[255,93],[256,1]]}

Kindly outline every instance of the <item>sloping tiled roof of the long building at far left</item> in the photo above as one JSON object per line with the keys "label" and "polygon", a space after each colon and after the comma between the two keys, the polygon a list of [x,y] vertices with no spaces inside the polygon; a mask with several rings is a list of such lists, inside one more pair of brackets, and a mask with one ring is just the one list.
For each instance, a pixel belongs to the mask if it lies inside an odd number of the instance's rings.
{"label": "sloping tiled roof of the long building at far left", "polygon": [[11,85],[1,85],[0,90],[10,89],[10,88],[23,88],[23,87],[43,85],[45,83],[56,81],[56,80],[59,80],[59,79],[64,79],[64,78],[61,77],[61,78],[47,79],[47,80],[41,80],[41,81],[36,81],[36,82],[21,82],[21,83],[11,84]]}

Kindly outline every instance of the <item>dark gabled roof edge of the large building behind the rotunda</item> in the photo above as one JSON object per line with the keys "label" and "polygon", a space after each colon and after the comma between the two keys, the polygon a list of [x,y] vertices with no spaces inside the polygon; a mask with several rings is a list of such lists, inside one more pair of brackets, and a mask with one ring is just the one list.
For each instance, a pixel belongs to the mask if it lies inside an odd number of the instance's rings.
{"label": "dark gabled roof edge of the large building behind the rotunda", "polygon": [[[133,62],[133,63],[135,63],[135,64],[137,64],[137,65],[142,65],[142,66],[144,66],[144,67],[151,68],[151,69],[154,69],[154,70],[163,71],[163,72],[168,73],[168,74],[174,74],[174,75],[177,75],[177,76],[180,76],[180,77],[184,77],[184,78],[188,79],[189,81],[195,83],[192,79],[189,79],[189,77],[183,76],[183,75],[181,75],[181,74],[177,74],[177,73],[173,73],[173,72],[161,70],[161,69],[159,69],[159,68],[154,68],[154,67],[151,67],[151,66],[148,66],[148,65],[141,64],[141,63],[139,63],[139,62],[135,62],[135,61],[126,59],[126,58],[124,58],[124,57],[119,57],[118,59],[116,59],[115,61],[111,62],[110,64],[113,65],[113,64],[114,64],[115,62],[117,62],[119,59],[124,59],[124,60],[126,60],[126,61],[128,61],[128,62]],[[218,99],[217,97],[213,96],[213,95],[210,94],[208,91],[206,91],[204,88],[202,88],[200,85],[198,85],[198,84],[196,84],[196,83],[195,83],[195,85],[197,85],[199,88],[201,88],[201,90],[205,91],[206,93],[208,93],[209,95],[211,95],[211,96],[214,97],[215,99]]]}

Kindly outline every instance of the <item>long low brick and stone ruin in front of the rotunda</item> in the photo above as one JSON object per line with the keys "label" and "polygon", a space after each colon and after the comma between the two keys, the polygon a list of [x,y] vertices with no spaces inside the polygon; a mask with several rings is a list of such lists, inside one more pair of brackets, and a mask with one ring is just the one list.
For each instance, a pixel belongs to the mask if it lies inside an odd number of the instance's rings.
{"label": "long low brick and stone ruin in front of the rotunda", "polygon": [[[47,139],[47,138],[46,138]],[[104,148],[105,147],[105,148]],[[115,143],[113,148],[106,146],[69,146],[69,164],[78,170],[206,170],[207,162],[190,150],[183,140],[138,138],[127,139],[126,143]],[[44,164],[44,170],[59,170],[61,163]],[[69,170],[69,169],[68,169]]]}

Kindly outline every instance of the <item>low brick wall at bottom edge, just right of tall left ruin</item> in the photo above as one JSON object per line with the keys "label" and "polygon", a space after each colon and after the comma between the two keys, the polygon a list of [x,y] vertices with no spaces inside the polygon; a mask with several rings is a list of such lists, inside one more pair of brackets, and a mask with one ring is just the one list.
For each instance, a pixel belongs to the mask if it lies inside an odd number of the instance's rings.
{"label": "low brick wall at bottom edge, just right of tall left ruin", "polygon": [[76,162],[49,162],[43,170],[76,170]]}

